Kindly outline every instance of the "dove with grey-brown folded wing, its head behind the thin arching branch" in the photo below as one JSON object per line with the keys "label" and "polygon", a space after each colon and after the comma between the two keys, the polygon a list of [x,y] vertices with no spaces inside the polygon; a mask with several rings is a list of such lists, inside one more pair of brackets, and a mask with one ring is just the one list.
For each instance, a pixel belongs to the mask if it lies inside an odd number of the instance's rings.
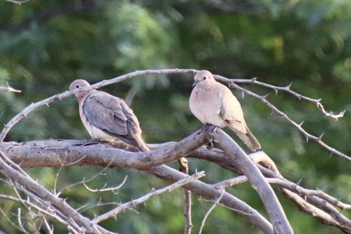
{"label": "dove with grey-brown folded wing, its head behind the thin arching branch", "polygon": [[[69,90],[87,86],[90,84],[85,80],[75,80]],[[80,118],[93,139],[113,141],[117,138],[140,151],[150,151],[141,138],[137,117],[123,99],[96,90],[79,92],[76,96]]]}

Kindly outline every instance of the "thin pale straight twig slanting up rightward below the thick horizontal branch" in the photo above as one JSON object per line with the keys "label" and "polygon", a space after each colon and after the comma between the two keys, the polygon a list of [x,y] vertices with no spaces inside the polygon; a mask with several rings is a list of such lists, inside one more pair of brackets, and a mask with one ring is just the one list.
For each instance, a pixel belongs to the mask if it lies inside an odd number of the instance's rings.
{"label": "thin pale straight twig slanting up rightward below the thick horizontal branch", "polygon": [[152,198],[153,196],[171,192],[173,189],[179,188],[179,187],[181,187],[187,183],[190,183],[194,180],[197,180],[203,176],[205,176],[205,172],[201,171],[201,172],[198,172],[196,174],[193,174],[192,176],[188,176],[185,179],[179,180],[178,182],[173,183],[172,185],[168,185],[167,187],[164,187],[164,188],[161,188],[158,190],[154,190],[154,191],[142,196],[141,198],[124,203],[124,204],[110,210],[109,212],[107,212],[105,214],[102,214],[102,215],[95,217],[92,220],[92,223],[99,223],[105,219],[112,218],[112,217],[116,216],[119,212],[124,211],[126,208],[135,207],[136,205],[138,205],[140,203],[144,203],[147,199]]}

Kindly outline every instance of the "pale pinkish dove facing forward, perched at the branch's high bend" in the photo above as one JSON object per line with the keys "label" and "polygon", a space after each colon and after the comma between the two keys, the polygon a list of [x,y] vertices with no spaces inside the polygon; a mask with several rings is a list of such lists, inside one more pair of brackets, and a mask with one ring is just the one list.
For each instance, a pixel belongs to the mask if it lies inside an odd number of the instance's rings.
{"label": "pale pinkish dove facing forward, perched at the branch's high bend", "polygon": [[252,151],[260,149],[244,120],[243,110],[229,88],[213,79],[211,72],[199,71],[190,95],[191,112],[203,123],[230,127]]}

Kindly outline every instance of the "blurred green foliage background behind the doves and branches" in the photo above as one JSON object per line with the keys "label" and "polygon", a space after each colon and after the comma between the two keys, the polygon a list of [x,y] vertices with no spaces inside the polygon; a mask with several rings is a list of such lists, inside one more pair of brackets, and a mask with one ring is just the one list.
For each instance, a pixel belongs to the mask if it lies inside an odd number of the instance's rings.
{"label": "blurred green foliage background behind the doves and branches", "polygon": [[[0,92],[0,123],[6,124],[22,109],[68,90],[75,79],[90,83],[144,69],[206,69],[227,78],[250,79],[286,86],[313,99],[322,98],[327,111],[346,110],[334,121],[307,101],[257,85],[240,85],[267,97],[293,121],[319,136],[333,148],[351,155],[351,2],[349,0],[179,0],[179,1],[39,1],[17,5],[0,0],[0,86],[6,82],[21,93]],[[202,124],[188,107],[193,76],[138,76],[100,90],[125,100],[137,115],[147,143],[179,141]],[[350,162],[330,155],[316,142],[261,101],[233,91],[241,102],[250,130],[262,149],[276,162],[285,178],[351,203]],[[76,98],[55,101],[31,112],[8,133],[5,141],[37,139],[90,139],[81,123]],[[250,150],[233,134],[246,152]],[[177,163],[170,166],[177,168]],[[201,179],[215,183],[235,176],[217,165],[189,159],[190,172],[205,170]],[[65,167],[58,189],[90,178],[101,167]],[[46,188],[52,189],[58,168],[26,169]],[[126,202],[167,185],[135,169],[112,168],[89,183],[92,188],[118,185],[128,175],[117,195],[92,193],[77,186],[62,196],[74,208],[102,202]],[[2,176],[3,177],[3,176]],[[0,185],[3,193],[11,188]],[[274,187],[274,186],[273,186]],[[267,217],[262,202],[246,183],[227,191],[246,201]],[[341,233],[299,212],[281,196],[295,233]],[[193,233],[212,205],[193,195]],[[16,220],[19,204],[0,201],[0,207]],[[87,209],[88,217],[113,205]],[[183,190],[158,196],[139,205],[139,214],[126,210],[101,224],[119,233],[182,233]],[[351,217],[350,212],[342,214]],[[29,222],[29,221],[28,221]],[[26,226],[31,230],[29,225]],[[19,232],[0,215],[0,230]],[[41,229],[45,233],[45,228]],[[67,230],[55,225],[55,233]],[[260,233],[236,212],[216,207],[203,233]]]}

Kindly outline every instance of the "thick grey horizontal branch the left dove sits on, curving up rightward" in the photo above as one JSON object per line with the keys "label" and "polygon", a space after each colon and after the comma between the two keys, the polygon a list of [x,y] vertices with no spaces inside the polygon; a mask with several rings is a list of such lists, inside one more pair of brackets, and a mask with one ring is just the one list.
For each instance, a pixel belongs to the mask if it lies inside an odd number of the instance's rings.
{"label": "thick grey horizontal branch the left dove sits on, curving up rightward", "polygon": [[[0,143],[8,157],[21,167],[60,167],[62,165],[99,165],[125,168],[150,168],[162,165],[194,151],[206,142],[206,133],[197,131],[178,143],[149,152],[128,152],[105,145],[67,145],[65,141],[48,140],[45,145]],[[56,146],[52,143],[58,143]],[[77,142],[77,141],[74,141]],[[65,143],[60,146],[60,143]],[[36,144],[36,143],[35,143]],[[41,160],[38,160],[38,157]]]}

